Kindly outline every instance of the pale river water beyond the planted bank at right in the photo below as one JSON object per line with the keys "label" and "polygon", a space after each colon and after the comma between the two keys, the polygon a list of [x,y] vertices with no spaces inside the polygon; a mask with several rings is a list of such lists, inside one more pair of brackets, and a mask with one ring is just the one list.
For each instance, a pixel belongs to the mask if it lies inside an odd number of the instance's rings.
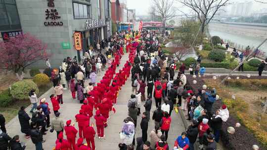
{"label": "pale river water beyond the planted bank at right", "polygon": [[[210,30],[211,36],[219,36],[222,38],[225,42],[227,40],[236,43],[237,47],[242,47],[245,49],[246,46],[250,47],[257,47],[262,41],[265,39],[263,37],[255,37],[255,36],[249,36],[249,35],[239,35],[236,33],[230,33],[230,32],[224,32],[224,31],[218,31],[218,30]],[[235,45],[235,44],[234,44]],[[267,54],[267,42],[265,42],[260,48],[263,52]]]}

